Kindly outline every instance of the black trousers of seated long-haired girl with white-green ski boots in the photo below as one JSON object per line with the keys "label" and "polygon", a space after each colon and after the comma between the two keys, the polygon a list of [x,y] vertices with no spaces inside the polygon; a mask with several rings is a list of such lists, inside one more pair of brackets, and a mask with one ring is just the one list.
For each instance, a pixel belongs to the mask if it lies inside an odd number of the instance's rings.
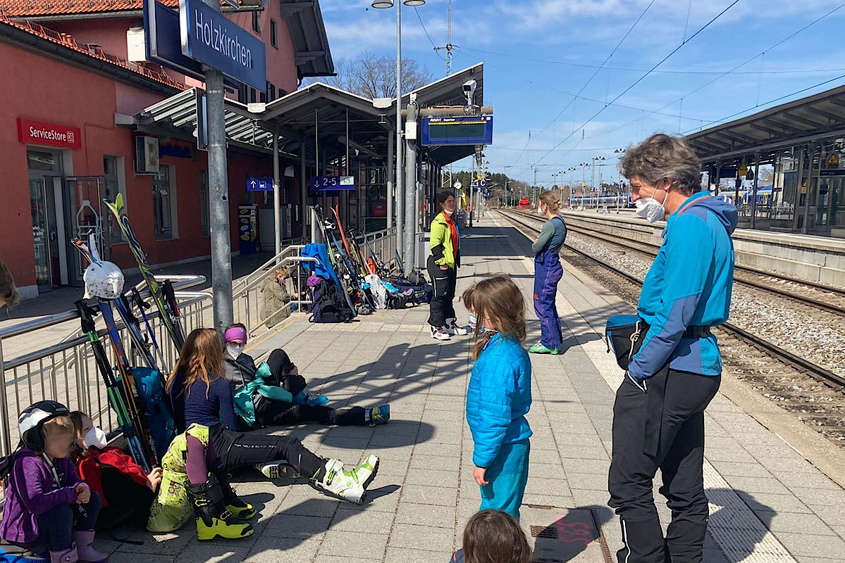
{"label": "black trousers of seated long-haired girl with white-green ski boots", "polygon": [[217,455],[226,465],[226,471],[285,460],[303,477],[312,478],[324,468],[327,460],[317,457],[293,436],[264,436],[254,432],[233,432],[221,425],[210,428],[210,439]]}

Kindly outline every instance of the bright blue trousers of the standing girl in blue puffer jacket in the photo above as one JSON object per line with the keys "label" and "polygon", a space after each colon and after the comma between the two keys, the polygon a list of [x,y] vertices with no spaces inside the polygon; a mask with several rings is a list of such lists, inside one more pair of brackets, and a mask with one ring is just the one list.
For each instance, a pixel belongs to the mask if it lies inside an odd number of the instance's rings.
{"label": "bright blue trousers of the standing girl in blue puffer jacket", "polygon": [[502,446],[484,474],[488,485],[481,487],[481,506],[478,510],[494,508],[520,519],[520,506],[528,482],[529,452],[531,443],[528,438]]}

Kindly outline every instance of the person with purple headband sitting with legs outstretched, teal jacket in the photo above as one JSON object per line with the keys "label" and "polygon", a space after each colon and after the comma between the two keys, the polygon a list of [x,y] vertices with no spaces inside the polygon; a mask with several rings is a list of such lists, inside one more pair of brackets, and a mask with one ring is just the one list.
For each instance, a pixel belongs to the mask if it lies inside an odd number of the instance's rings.
{"label": "person with purple headband sitting with legs outstretched, teal jacket", "polygon": [[235,397],[235,412],[249,428],[318,422],[330,426],[374,426],[390,420],[390,404],[372,409],[335,410],[328,398],[305,392],[308,383],[283,349],[270,352],[258,367],[243,352],[247,329],[241,323],[226,328],[226,379]]}

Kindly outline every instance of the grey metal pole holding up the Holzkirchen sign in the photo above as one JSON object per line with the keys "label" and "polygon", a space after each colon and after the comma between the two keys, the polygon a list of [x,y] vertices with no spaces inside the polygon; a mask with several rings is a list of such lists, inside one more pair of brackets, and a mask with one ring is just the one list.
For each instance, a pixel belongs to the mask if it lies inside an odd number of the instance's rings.
{"label": "grey metal pole holding up the Holzkirchen sign", "polygon": [[[220,11],[217,0],[203,0]],[[232,239],[229,232],[229,184],[226,170],[226,110],[223,74],[205,69],[205,98],[209,127],[209,216],[211,231],[211,287],[214,326],[223,334],[232,324]]]}

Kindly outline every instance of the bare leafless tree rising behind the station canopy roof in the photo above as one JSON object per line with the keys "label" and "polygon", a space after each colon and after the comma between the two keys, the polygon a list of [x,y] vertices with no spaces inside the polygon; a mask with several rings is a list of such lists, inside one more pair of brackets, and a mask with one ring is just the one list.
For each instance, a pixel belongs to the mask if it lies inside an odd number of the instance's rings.
{"label": "bare leafless tree rising behind the station canopy roof", "polygon": [[[396,61],[390,57],[376,57],[364,51],[349,61],[335,59],[335,76],[309,78],[307,84],[324,82],[368,99],[393,98],[396,95]],[[409,92],[433,80],[428,68],[413,59],[402,59],[402,91]]]}

